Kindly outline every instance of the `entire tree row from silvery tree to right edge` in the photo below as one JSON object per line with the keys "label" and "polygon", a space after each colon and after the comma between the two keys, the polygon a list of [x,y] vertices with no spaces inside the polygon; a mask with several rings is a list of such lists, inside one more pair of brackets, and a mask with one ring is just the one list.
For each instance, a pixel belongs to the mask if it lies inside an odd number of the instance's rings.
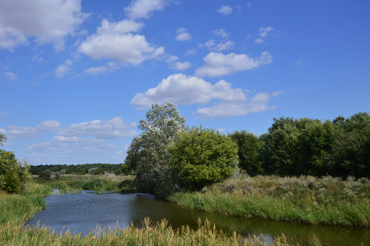
{"label": "entire tree row from silvery tree to right edge", "polygon": [[171,102],[153,104],[145,116],[125,160],[143,192],[200,189],[240,169],[250,175],[370,177],[367,112],[332,121],[274,118],[260,136],[189,128]]}

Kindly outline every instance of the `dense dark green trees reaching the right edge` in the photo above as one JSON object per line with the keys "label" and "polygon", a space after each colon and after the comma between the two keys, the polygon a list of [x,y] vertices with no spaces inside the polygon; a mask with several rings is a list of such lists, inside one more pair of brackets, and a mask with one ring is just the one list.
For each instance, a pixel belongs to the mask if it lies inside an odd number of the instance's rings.
{"label": "dense dark green trees reaching the right edge", "polygon": [[262,134],[259,140],[258,159],[265,172],[370,177],[370,115],[367,112],[324,122],[274,118],[268,133]]}

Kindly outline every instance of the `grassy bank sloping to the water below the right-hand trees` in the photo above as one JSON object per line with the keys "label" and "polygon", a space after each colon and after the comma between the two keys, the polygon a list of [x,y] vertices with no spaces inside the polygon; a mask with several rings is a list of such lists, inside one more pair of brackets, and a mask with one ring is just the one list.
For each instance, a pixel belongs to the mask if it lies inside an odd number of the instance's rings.
{"label": "grassy bank sloping to the water below the right-hand trees", "polygon": [[[205,189],[204,189],[205,190]],[[207,212],[310,224],[370,227],[369,179],[242,175],[172,202]]]}

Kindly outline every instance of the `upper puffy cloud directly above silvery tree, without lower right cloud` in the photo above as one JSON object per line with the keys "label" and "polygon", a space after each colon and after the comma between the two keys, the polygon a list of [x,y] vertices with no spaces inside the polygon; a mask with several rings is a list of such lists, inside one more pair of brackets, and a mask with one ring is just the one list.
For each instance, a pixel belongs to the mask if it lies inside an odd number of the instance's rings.
{"label": "upper puffy cloud directly above silvery tree, without lower right cloud", "polygon": [[212,85],[201,78],[180,73],[168,76],[155,88],[137,93],[132,98],[131,105],[137,109],[144,109],[154,102],[171,101],[179,105],[208,104],[212,99],[243,101],[246,95],[240,88],[233,89],[232,84],[225,80]]}

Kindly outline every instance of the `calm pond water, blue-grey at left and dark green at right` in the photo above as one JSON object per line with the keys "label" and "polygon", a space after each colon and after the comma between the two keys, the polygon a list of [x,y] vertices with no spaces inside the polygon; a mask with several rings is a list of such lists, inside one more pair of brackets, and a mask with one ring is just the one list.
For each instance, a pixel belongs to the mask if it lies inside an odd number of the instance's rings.
{"label": "calm pond water, blue-grey at left and dark green at right", "polygon": [[135,226],[140,227],[145,217],[150,217],[153,221],[166,218],[172,228],[189,225],[196,229],[198,228],[196,220],[201,218],[204,221],[207,218],[223,232],[231,233],[235,230],[243,236],[262,233],[269,242],[281,233],[288,239],[307,242],[312,233],[315,233],[322,239],[323,245],[350,246],[361,243],[370,245],[370,230],[223,216],[182,208],[175,203],[140,193],[123,195],[83,191],[77,194],[52,195],[45,199],[46,209],[28,220],[26,225],[34,225],[40,220],[41,225],[50,226],[58,232],[61,230],[65,232],[70,228],[72,232],[86,234],[89,230],[95,229],[97,224],[109,227],[115,225],[117,220],[121,227],[127,226],[131,220]]}

